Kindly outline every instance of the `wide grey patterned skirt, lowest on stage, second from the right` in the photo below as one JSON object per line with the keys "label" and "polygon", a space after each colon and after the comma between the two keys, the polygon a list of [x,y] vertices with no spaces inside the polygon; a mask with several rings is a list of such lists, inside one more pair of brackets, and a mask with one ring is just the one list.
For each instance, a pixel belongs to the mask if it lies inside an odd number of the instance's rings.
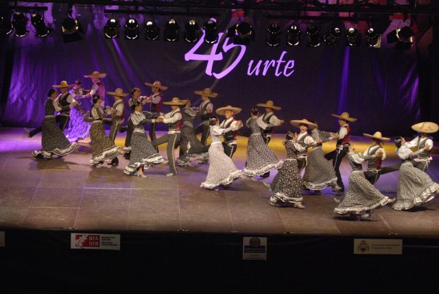
{"label": "wide grey patterned skirt, lowest on stage, second from the right", "polygon": [[334,212],[339,215],[364,212],[385,206],[388,201],[389,197],[381,194],[366,180],[363,171],[353,171],[349,175],[348,191]]}

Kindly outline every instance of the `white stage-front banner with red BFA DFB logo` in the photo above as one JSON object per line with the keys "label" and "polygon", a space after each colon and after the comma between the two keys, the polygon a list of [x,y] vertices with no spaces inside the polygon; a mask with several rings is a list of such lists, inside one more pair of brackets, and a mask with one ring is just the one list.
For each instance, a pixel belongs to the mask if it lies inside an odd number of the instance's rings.
{"label": "white stage-front banner with red BFA DFB logo", "polygon": [[119,234],[72,233],[70,236],[71,249],[121,249],[121,235]]}

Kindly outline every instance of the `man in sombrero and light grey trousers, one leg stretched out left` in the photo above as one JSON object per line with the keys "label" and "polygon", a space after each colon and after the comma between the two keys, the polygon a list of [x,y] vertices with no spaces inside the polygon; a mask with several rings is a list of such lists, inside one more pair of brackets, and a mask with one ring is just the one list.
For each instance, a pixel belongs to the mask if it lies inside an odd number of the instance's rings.
{"label": "man in sombrero and light grey trousers, one leg stretched out left", "polygon": [[174,149],[176,148],[176,144],[180,142],[180,123],[182,118],[180,106],[184,106],[186,102],[186,100],[180,100],[180,98],[178,97],[172,98],[171,101],[163,102],[163,104],[170,105],[172,108],[172,111],[168,112],[167,114],[163,114],[163,112],[161,112],[161,115],[159,117],[163,119],[163,123],[168,124],[169,131],[167,132],[167,134],[152,141],[153,146],[167,143],[166,153],[167,159],[169,160],[169,173],[167,173],[168,177],[172,175],[177,175]]}

